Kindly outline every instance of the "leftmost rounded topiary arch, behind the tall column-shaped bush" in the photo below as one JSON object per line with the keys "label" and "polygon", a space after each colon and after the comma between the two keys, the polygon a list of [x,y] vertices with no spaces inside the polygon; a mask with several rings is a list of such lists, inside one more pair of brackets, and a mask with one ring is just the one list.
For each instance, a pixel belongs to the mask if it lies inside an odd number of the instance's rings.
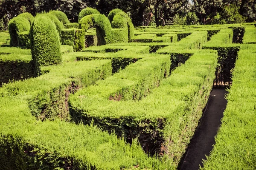
{"label": "leftmost rounded topiary arch, behind the tall column-shaped bush", "polygon": [[10,44],[12,46],[18,46],[18,33],[23,31],[29,31],[30,23],[29,20],[23,17],[15,17],[9,22],[9,34],[10,34]]}

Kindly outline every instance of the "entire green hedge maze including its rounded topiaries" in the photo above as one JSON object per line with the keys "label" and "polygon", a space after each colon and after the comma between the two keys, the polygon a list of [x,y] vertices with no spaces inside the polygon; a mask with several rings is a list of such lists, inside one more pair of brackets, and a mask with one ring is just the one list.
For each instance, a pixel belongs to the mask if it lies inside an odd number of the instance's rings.
{"label": "entire green hedge maze including its rounded topiaries", "polygon": [[20,14],[0,31],[0,169],[177,169],[213,86],[228,104],[201,169],[255,169],[255,43],[253,23]]}

